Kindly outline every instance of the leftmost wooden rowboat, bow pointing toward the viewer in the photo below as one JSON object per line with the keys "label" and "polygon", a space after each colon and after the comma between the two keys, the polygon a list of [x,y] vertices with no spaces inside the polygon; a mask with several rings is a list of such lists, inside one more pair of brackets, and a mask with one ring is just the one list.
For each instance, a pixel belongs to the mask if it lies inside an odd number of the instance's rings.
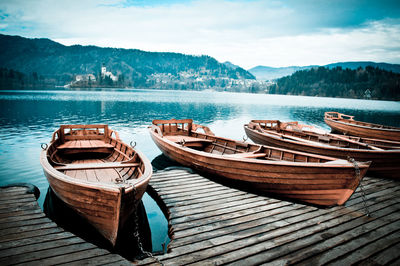
{"label": "leftmost wooden rowboat, bow pointing toward the viewer", "polygon": [[62,125],[42,148],[54,193],[114,246],[146,191],[150,161],[107,125]]}

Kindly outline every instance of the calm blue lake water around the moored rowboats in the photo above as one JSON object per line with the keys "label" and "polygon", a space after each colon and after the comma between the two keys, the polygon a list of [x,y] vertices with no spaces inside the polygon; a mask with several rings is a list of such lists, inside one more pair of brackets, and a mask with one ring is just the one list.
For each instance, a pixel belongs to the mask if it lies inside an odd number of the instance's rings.
{"label": "calm blue lake water around the moored rowboats", "polygon": [[[0,185],[32,183],[43,206],[48,182],[39,162],[40,144],[60,124],[108,124],[121,139],[136,141],[150,160],[161,152],[147,127],[153,119],[192,118],[218,136],[242,139],[251,119],[279,119],[329,129],[326,111],[400,127],[400,102],[225,92],[157,90],[51,90],[0,92]],[[160,158],[160,157],[159,157]],[[143,198],[153,251],[168,241],[167,221],[154,200]]]}

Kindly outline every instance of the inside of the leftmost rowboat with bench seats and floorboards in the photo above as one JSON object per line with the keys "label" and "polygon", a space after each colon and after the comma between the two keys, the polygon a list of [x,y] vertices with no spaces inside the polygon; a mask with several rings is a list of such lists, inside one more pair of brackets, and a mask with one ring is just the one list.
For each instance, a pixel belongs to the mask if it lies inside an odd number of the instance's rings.
{"label": "inside of the leftmost rowboat with bench seats and floorboards", "polygon": [[107,125],[61,126],[53,134],[47,158],[65,175],[94,182],[121,183],[140,177],[144,171],[134,149],[122,143]]}

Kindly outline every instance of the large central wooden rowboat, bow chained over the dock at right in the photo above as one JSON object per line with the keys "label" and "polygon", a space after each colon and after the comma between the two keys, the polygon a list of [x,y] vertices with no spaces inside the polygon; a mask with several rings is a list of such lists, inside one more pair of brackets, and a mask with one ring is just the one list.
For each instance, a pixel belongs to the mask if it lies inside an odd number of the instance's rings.
{"label": "large central wooden rowboat, bow chained over the dock at right", "polygon": [[343,204],[370,164],[216,137],[191,119],[154,120],[149,130],[160,150],[182,165],[316,205]]}

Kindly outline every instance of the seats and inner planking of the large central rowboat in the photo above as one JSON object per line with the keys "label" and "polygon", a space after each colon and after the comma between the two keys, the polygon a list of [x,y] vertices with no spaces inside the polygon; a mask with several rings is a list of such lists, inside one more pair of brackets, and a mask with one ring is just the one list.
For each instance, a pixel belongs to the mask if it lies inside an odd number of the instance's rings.
{"label": "seats and inner planking of the large central rowboat", "polygon": [[[202,129],[203,132],[198,132]],[[216,137],[208,127],[193,124],[191,119],[154,120],[153,130],[182,147],[210,154],[224,155],[227,158],[248,158],[270,161],[323,163],[335,158],[289,151],[285,149],[250,144],[247,142]]]}

